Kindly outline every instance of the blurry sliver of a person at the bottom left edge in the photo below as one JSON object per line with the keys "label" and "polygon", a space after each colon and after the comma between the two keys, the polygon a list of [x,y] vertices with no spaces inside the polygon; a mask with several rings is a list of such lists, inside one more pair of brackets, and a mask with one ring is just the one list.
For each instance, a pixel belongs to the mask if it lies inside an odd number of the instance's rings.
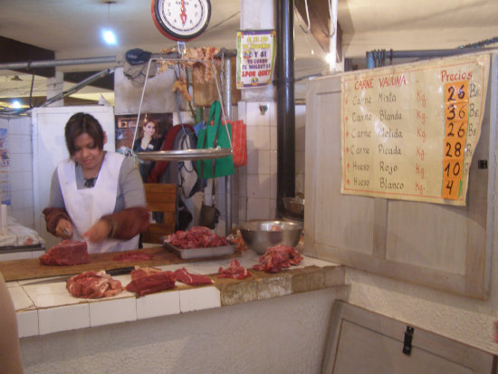
{"label": "blurry sliver of a person at the bottom left edge", "polygon": [[14,303],[0,273],[0,373],[23,374]]}

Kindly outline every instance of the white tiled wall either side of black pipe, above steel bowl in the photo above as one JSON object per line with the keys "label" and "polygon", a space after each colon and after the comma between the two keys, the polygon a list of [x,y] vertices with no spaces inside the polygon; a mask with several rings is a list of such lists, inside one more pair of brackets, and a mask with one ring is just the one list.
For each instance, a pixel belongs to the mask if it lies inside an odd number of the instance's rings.
{"label": "white tiled wall either side of black pipe, above steel bowl", "polygon": [[[304,105],[296,106],[296,192],[304,193]],[[238,104],[247,125],[247,166],[238,168],[239,221],[275,219],[277,195],[277,112],[275,102]]]}

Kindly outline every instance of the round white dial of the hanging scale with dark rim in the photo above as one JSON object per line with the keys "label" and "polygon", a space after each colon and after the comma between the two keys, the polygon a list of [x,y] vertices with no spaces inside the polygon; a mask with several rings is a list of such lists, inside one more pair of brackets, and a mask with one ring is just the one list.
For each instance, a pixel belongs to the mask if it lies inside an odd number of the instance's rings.
{"label": "round white dial of the hanging scale with dark rim", "polygon": [[152,19],[169,39],[188,41],[202,34],[209,24],[209,0],[152,0]]}

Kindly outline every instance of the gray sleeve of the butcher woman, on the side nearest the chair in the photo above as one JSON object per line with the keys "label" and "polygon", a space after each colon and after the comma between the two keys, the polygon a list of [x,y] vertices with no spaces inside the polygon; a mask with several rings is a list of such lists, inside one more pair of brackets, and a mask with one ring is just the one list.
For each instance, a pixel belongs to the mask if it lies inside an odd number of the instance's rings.
{"label": "gray sleeve of the butcher woman, on the side nearest the chair", "polygon": [[118,199],[122,200],[124,206],[119,208],[120,204],[117,202],[115,212],[134,206],[147,206],[142,178],[133,158],[125,158],[123,160],[118,183]]}

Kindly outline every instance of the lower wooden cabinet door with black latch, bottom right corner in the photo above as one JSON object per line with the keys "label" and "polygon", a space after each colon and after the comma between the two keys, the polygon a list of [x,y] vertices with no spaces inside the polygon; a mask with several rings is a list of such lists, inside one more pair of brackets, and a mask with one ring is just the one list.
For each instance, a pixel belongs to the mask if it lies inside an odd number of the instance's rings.
{"label": "lower wooden cabinet door with black latch, bottom right corner", "polygon": [[[413,330],[405,346],[407,328]],[[492,374],[494,360],[484,350],[337,301],[322,373]]]}

